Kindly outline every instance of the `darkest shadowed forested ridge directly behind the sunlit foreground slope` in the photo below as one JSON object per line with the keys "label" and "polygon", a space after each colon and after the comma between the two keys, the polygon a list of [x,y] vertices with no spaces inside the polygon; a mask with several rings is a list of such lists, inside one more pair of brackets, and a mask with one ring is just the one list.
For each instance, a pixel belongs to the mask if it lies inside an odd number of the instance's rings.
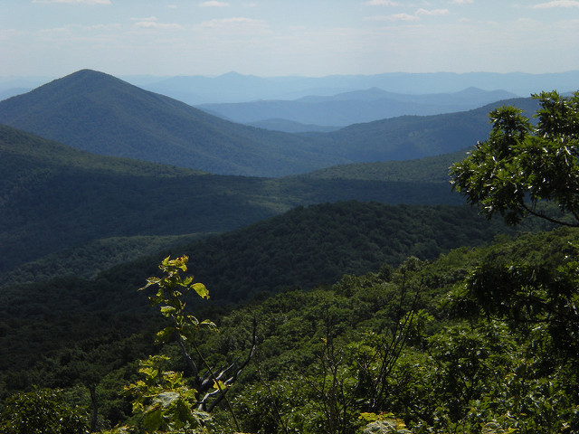
{"label": "darkest shadowed forested ridge directly behind the sunlit foreground slope", "polygon": [[[289,288],[332,284],[344,274],[377,271],[384,264],[395,267],[408,255],[436,259],[461,245],[489,242],[498,233],[514,231],[501,222],[477,218],[466,206],[347,202],[300,207],[239,231],[128,261],[92,280],[79,273],[5,286],[0,290],[0,317],[5,321],[5,339],[11,341],[5,348],[12,349],[6,350],[0,365],[35,363],[35,357],[24,354],[50,354],[82,340],[78,334],[84,332],[68,335],[72,323],[75,330],[95,323],[95,329],[87,332],[94,338],[112,333],[109,323],[117,324],[115,329],[123,335],[135,333],[133,325],[121,330],[119,324],[138,325],[147,316],[147,303],[137,288],[157,273],[158,260],[168,254],[190,255],[191,272],[211,291],[213,301],[207,306],[218,309]],[[48,267],[32,271],[50,273]],[[33,330],[49,329],[55,337],[43,339],[43,332],[30,336]],[[23,354],[26,361],[15,354]]]}

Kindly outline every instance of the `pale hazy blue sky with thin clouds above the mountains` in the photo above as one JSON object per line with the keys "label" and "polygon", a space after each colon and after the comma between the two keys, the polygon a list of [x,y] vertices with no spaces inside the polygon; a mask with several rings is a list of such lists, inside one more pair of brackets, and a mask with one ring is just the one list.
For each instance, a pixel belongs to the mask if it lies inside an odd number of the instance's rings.
{"label": "pale hazy blue sky with thin clouds above the mountains", "polygon": [[0,76],[579,70],[579,0],[2,0]]}

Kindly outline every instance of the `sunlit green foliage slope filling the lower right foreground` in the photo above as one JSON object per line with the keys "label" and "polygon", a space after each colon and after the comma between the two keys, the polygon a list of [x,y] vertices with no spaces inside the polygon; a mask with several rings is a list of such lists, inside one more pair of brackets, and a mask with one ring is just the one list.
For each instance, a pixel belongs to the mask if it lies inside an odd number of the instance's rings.
{"label": "sunlit green foliage slope filling the lower right foreground", "polygon": [[[195,344],[209,366],[228,366],[251,350],[256,318],[257,350],[228,387],[230,406],[222,401],[205,419],[204,395],[191,392],[195,374],[178,342],[167,342],[159,350],[168,360],[134,368],[141,373],[131,383],[148,392],[122,398],[137,406],[120,426],[132,420],[131,432],[153,432],[142,424],[160,423],[161,408],[176,414],[186,399],[194,410],[187,414],[208,432],[346,434],[392,420],[413,433],[574,432],[576,238],[576,230],[562,229],[453,250],[432,263],[407,259],[398,269],[237,308],[215,318],[220,333],[199,333],[185,344]],[[527,309],[506,310],[493,293],[497,285],[516,289],[508,297]],[[192,358],[202,365],[195,352]],[[100,400],[113,375],[100,378]],[[379,425],[377,418],[390,421]],[[156,429],[187,432],[178,424]]]}

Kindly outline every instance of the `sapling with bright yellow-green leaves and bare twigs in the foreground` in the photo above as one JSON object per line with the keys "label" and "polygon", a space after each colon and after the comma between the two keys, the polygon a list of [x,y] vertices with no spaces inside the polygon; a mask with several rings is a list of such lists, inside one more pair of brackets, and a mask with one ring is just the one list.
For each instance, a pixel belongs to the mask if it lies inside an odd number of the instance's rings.
{"label": "sapling with bright yellow-green leaves and bare twigs in the foreground", "polygon": [[[255,333],[252,347],[247,358],[235,361],[214,370],[201,354],[195,337],[202,329],[217,331],[210,320],[198,320],[186,311],[185,298],[196,293],[204,299],[209,291],[204,284],[193,281],[192,276],[183,278],[187,271],[187,256],[176,259],[167,257],[159,265],[163,277],[147,278],[147,285],[139,290],[156,286],[157,293],[148,297],[152,306],[158,306],[161,314],[169,319],[170,325],[157,332],[156,342],[163,344],[175,340],[181,349],[185,363],[190,368],[187,385],[183,373],[166,370],[167,358],[151,356],[141,363],[140,373],[145,379],[125,388],[133,396],[133,410],[141,415],[140,423],[144,428],[155,432],[197,432],[208,418],[208,411],[221,401],[225,401],[231,412],[236,429],[239,425],[233,408],[226,398],[226,392],[235,382],[242,369],[250,362],[255,350]],[[190,350],[194,355],[190,353]]]}

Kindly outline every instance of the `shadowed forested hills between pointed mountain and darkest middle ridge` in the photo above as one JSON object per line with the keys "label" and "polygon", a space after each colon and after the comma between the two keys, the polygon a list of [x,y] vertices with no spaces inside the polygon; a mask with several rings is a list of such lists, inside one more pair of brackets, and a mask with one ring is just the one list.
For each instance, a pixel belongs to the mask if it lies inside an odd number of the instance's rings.
{"label": "shadowed forested hills between pointed mountain and darkest middle ridge", "polygon": [[[0,181],[0,273],[90,241],[232,231],[298,205],[460,200],[442,183],[203,175],[95,156],[12,127],[0,127]],[[61,268],[74,273],[73,263]]]}

